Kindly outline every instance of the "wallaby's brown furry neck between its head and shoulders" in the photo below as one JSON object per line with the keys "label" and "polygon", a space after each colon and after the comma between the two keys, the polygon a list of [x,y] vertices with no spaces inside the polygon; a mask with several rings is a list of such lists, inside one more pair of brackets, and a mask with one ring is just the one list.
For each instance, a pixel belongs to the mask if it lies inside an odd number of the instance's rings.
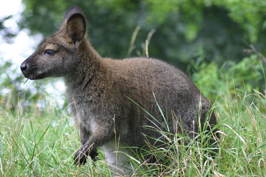
{"label": "wallaby's brown furry neck between its head and shoulders", "polygon": [[86,89],[101,72],[102,58],[87,39],[78,48],[76,67],[73,73],[65,77],[67,87]]}

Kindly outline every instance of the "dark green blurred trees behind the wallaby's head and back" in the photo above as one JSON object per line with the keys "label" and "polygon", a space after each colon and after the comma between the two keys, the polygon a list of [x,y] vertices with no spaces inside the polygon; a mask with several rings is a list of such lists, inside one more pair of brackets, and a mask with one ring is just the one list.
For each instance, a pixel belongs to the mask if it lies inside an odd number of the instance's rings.
{"label": "dark green blurred trees behind the wallaby's head and back", "polygon": [[44,37],[60,27],[64,12],[73,5],[87,16],[89,39],[103,57],[125,58],[134,29],[139,25],[131,56],[142,53],[142,43],[153,28],[150,57],[183,71],[200,61],[240,61],[253,44],[266,53],[265,0],[23,0],[23,16],[32,34]]}

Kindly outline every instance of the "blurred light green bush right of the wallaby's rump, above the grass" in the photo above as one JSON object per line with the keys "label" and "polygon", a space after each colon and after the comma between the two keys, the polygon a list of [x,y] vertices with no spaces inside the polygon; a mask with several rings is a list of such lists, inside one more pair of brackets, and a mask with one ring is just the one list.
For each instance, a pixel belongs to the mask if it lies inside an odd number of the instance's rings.
{"label": "blurred light green bush right of the wallaby's rump, above the grass", "polygon": [[199,71],[192,75],[192,81],[198,88],[201,88],[204,95],[210,95],[213,101],[217,94],[221,96],[220,94],[228,92],[233,96],[235,90],[243,84],[249,93],[254,92],[253,89],[263,92],[266,88],[263,73],[266,60],[258,53],[243,58],[239,63],[228,61],[223,65],[218,65],[214,62],[209,64],[203,62],[199,65],[201,62],[201,58],[198,58],[195,63],[191,63],[192,67]]}

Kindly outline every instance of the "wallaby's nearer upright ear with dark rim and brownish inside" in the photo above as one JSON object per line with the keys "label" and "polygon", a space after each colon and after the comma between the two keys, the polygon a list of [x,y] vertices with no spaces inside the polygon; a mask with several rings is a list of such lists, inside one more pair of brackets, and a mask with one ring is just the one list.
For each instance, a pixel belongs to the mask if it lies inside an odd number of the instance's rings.
{"label": "wallaby's nearer upright ear with dark rim and brownish inside", "polygon": [[67,32],[76,47],[80,44],[86,32],[86,22],[82,14],[74,14],[67,21]]}

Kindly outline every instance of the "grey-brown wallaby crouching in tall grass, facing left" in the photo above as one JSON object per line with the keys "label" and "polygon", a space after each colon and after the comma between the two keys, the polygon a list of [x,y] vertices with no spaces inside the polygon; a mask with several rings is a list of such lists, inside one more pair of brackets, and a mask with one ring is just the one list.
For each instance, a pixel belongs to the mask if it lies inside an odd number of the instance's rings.
{"label": "grey-brown wallaby crouching in tall grass, facing left", "polygon": [[[172,65],[151,58],[102,58],[87,40],[86,19],[77,6],[66,12],[59,31],[43,40],[20,69],[31,80],[64,78],[81,137],[74,163],[86,163],[88,156],[96,161],[101,147],[107,163],[124,175],[132,173],[132,166],[126,162],[128,156],[116,154],[116,146],[142,148],[147,139],[160,145],[149,138],[162,138],[160,132],[145,127],[163,130],[166,121],[160,109],[165,115],[173,110],[182,125],[168,120],[170,133],[182,129],[193,138],[193,132],[199,132],[199,117],[203,127],[211,107],[192,81]],[[213,112],[208,123],[210,131],[217,123]],[[119,151],[134,156],[129,148]]]}

